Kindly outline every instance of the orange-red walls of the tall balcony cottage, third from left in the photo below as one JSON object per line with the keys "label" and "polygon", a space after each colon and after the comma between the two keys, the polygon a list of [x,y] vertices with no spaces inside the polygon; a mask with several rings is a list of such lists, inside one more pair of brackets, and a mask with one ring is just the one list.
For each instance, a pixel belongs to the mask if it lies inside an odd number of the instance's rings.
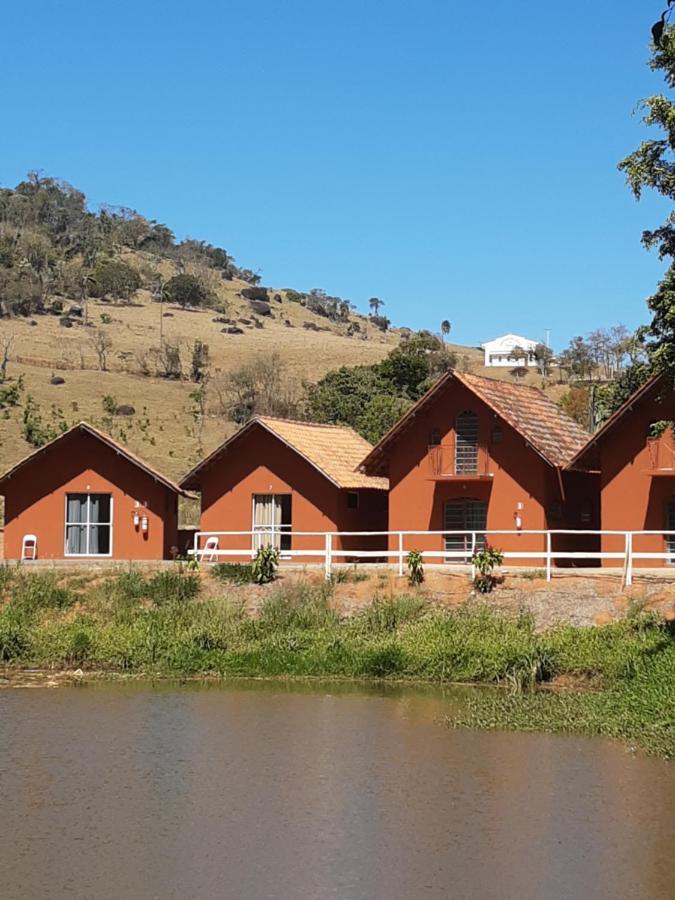
{"label": "orange-red walls of the tall balcony cottage, third from left", "polygon": [[[485,447],[493,474],[489,481],[433,481],[430,479],[429,439],[438,430],[441,444],[453,446],[455,420],[462,412],[471,411],[479,418],[479,442]],[[492,442],[495,427],[502,431],[502,442]],[[451,450],[448,449],[448,453]],[[587,489],[590,503],[597,510],[596,490],[592,478],[582,478],[567,500],[563,500],[558,475],[524,439],[464,385],[450,382],[432,404],[420,410],[412,426],[403,433],[390,453],[389,462],[389,530],[441,531],[443,509],[448,500],[476,499],[487,503],[487,529],[513,530],[518,503],[522,529],[572,527],[576,505]],[[567,484],[565,484],[567,491]],[[591,527],[590,525],[586,527]],[[488,535],[488,543],[511,552],[532,552],[545,548],[542,535]],[[442,550],[443,537],[409,536],[404,549]],[[396,539],[391,539],[393,547]],[[558,545],[562,549],[562,543]],[[440,562],[430,559],[430,562]],[[514,565],[540,566],[541,557],[513,560]]]}

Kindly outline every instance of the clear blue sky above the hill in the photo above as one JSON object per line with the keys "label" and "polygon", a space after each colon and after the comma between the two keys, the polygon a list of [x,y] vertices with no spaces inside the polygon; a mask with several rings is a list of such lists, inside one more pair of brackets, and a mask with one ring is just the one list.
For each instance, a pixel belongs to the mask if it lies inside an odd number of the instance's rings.
{"label": "clear blue sky above the hill", "polygon": [[0,183],[41,168],[395,324],[560,348],[647,320],[616,170],[663,2],[50,0],[3,13]]}

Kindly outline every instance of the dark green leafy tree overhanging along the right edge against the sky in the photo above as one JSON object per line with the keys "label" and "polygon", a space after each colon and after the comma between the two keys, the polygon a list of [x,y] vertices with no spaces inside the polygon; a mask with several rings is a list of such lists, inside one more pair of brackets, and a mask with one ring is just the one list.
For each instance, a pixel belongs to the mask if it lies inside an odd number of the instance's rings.
{"label": "dark green leafy tree overhanging along the right edge against the sky", "polygon": [[[670,9],[673,0],[668,0]],[[650,68],[663,73],[666,85],[675,87],[675,28],[666,23],[667,12],[652,30]],[[636,199],[651,188],[668,200],[675,200],[675,104],[664,94],[642,101],[643,121],[658,129],[659,137],[643,141],[619,163]],[[647,329],[647,350],[652,366],[675,373],[675,210],[658,228],[645,231],[644,245],[657,248],[660,259],[669,260],[668,270],[647,304],[652,321]]]}

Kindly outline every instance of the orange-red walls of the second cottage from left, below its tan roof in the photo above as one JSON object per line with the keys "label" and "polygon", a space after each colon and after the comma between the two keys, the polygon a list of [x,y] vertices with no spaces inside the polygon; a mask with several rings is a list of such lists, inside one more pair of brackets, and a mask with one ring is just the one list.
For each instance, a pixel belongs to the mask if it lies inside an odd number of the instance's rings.
{"label": "orange-red walls of the second cottage from left, below its tan roof", "polygon": [[[254,494],[291,494],[293,532],[386,531],[386,491],[359,491],[359,508],[347,508],[347,491],[332,484],[294,450],[258,426],[244,434],[200,473],[202,531],[250,531]],[[220,537],[221,549],[237,549],[244,537]],[[385,539],[384,542],[386,543]],[[202,541],[203,543],[203,541]],[[292,550],[322,550],[323,537],[293,537]],[[370,539],[343,538],[334,546],[377,549]],[[380,542],[382,545],[382,541]],[[249,554],[250,557],[250,554]],[[241,559],[245,559],[243,556]],[[223,558],[225,559],[225,558]],[[227,559],[239,559],[228,557]],[[300,561],[311,562],[311,557]],[[317,562],[318,560],[314,560]],[[341,560],[336,560],[341,562]]]}

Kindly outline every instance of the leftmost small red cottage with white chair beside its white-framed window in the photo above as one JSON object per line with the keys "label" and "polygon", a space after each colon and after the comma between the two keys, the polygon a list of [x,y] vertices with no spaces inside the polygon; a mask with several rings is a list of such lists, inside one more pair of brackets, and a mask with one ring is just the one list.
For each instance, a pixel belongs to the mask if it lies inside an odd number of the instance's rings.
{"label": "leftmost small red cottage with white chair beside its white-framed window", "polygon": [[86,422],[0,477],[4,556],[169,559],[183,491]]}

